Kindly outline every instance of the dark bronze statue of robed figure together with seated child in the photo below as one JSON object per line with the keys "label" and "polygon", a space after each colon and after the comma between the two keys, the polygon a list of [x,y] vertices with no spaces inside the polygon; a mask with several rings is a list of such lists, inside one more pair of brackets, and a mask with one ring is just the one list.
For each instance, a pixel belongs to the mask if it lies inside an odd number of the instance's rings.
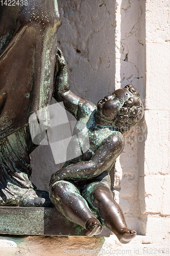
{"label": "dark bronze statue of robed figure together with seated child", "polygon": [[[67,219],[87,230],[87,236],[99,234],[105,225],[121,243],[128,243],[136,232],[128,229],[113,199],[109,172],[123,151],[123,133],[142,118],[139,93],[128,85],[101,99],[97,107],[77,97],[69,90],[67,65],[57,49],[61,19],[56,0],[47,6],[45,0],[26,3],[0,10],[0,205],[50,206],[51,199]],[[86,151],[52,175],[49,199],[29,180],[30,153],[37,145],[28,120],[48,106],[52,96],[76,117],[74,134],[81,134],[79,147]],[[48,130],[48,111],[40,122]]]}

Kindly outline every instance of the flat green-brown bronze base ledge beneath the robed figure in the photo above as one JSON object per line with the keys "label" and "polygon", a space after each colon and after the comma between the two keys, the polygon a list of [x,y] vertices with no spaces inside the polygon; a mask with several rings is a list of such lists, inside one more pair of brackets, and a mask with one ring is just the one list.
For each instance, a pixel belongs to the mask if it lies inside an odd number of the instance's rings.
{"label": "flat green-brown bronze base ledge beneath the robed figure", "polygon": [[[1,206],[0,233],[29,236],[86,235],[83,227],[70,222],[55,208],[11,206]],[[109,236],[107,228],[98,235]]]}

